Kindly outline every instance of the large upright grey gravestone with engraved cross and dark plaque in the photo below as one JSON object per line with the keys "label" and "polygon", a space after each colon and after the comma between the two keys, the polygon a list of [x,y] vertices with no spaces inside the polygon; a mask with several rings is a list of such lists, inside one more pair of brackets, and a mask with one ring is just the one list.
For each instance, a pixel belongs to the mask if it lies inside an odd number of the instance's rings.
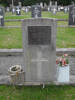
{"label": "large upright grey gravestone with engraved cross and dark plaque", "polygon": [[55,19],[26,19],[22,27],[26,81],[56,81]]}

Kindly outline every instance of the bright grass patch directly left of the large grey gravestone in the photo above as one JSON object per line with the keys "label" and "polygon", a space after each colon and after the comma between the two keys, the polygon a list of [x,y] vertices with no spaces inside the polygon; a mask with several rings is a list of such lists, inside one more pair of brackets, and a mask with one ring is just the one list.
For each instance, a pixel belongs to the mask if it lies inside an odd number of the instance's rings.
{"label": "bright grass patch directly left of the large grey gravestone", "polygon": [[22,30],[0,28],[0,48],[22,48]]}

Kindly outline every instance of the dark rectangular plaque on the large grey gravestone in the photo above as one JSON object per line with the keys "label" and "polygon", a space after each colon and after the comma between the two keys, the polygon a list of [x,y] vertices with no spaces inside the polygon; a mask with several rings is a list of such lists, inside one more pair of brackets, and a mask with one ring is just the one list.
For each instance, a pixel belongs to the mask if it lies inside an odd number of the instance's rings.
{"label": "dark rectangular plaque on the large grey gravestone", "polygon": [[51,42],[50,26],[29,26],[28,44],[29,45],[48,45]]}

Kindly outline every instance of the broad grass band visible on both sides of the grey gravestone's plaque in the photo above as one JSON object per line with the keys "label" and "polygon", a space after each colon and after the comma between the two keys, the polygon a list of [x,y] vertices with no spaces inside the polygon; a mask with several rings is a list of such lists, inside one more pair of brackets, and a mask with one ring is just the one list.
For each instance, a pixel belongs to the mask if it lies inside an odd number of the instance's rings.
{"label": "broad grass band visible on both sides of the grey gravestone's plaque", "polygon": [[[58,28],[56,46],[75,48],[75,28]],[[22,29],[0,28],[0,48],[22,48]]]}

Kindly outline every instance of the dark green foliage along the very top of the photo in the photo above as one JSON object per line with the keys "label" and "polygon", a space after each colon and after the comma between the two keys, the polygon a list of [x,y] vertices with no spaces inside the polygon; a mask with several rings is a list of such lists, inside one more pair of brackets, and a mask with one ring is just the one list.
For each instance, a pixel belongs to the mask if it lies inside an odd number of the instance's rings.
{"label": "dark green foliage along the very top of the photo", "polygon": [[[14,1],[14,5],[18,5],[18,2],[22,2],[22,5],[34,5],[36,3],[40,3],[40,2],[46,2],[47,4],[49,4],[50,0],[13,0]],[[52,0],[52,1],[58,1],[59,5],[69,5],[72,2],[75,2],[75,0]],[[12,0],[0,0],[0,4],[4,5],[4,6],[9,6],[9,4],[12,3]]]}

